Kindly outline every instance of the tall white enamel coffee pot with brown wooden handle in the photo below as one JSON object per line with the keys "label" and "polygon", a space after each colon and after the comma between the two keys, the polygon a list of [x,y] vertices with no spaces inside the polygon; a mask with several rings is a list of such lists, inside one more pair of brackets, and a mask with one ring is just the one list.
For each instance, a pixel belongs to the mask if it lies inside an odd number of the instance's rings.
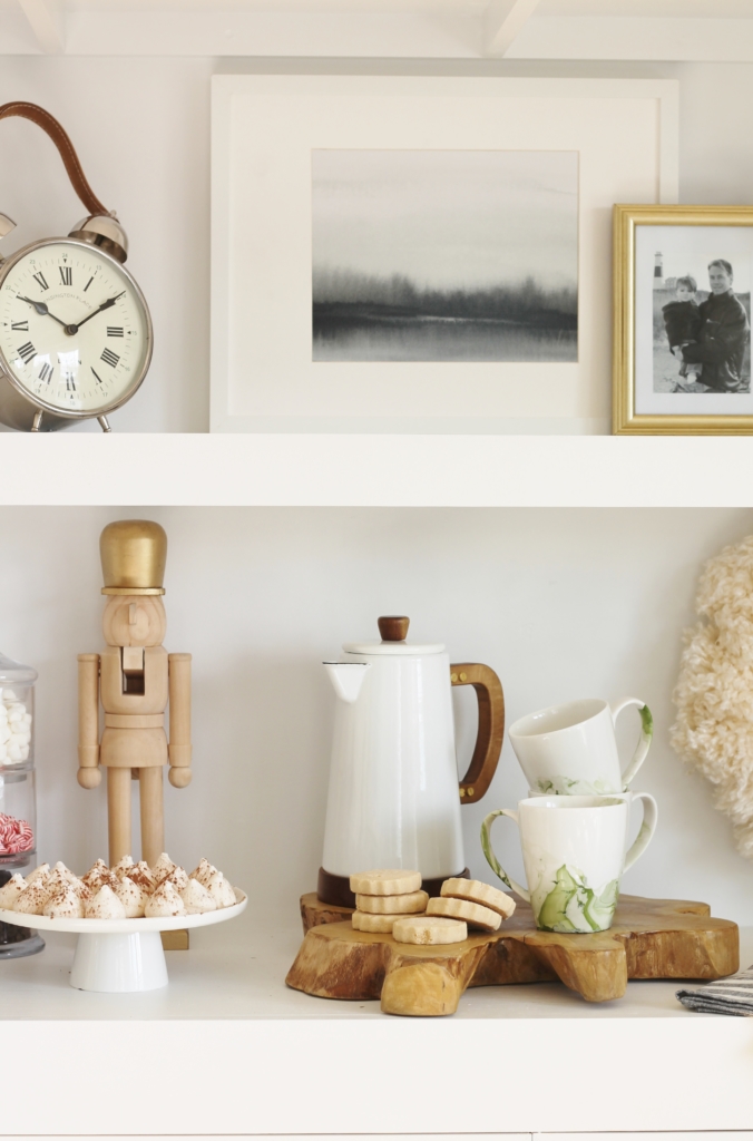
{"label": "tall white enamel coffee pot with brown wooden handle", "polygon": [[[502,750],[504,698],[487,665],[451,665],[439,642],[405,641],[408,618],[379,618],[381,641],[347,642],[325,662],[338,696],[323,903],[355,906],[354,872],[415,868],[427,887],[465,867],[460,807],[480,800]],[[452,686],[473,686],[478,736],[458,780]],[[460,795],[459,795],[460,793]]]}

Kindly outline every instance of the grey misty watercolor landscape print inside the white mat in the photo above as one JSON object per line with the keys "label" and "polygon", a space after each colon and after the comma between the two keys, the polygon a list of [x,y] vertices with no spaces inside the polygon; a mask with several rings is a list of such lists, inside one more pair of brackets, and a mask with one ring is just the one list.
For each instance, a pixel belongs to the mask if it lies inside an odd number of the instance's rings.
{"label": "grey misty watercolor landscape print inside the white mat", "polygon": [[577,359],[577,152],[311,164],[314,361]]}

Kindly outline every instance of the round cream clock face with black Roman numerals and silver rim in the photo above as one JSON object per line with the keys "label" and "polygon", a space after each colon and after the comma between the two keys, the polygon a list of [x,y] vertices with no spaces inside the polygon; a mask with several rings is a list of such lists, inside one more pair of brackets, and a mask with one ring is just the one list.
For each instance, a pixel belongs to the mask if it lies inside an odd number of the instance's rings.
{"label": "round cream clock face with black Roman numerals and silver rim", "polygon": [[0,364],[40,407],[73,416],[115,407],[151,354],[141,292],[102,250],[41,242],[0,269]]}

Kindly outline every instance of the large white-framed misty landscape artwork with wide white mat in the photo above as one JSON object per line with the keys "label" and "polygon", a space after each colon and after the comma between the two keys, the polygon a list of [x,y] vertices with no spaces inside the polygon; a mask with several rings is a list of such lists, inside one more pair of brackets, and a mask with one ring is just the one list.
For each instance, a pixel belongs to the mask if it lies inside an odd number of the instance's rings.
{"label": "large white-framed misty landscape artwork with wide white mat", "polygon": [[213,431],[609,429],[609,217],[661,80],[216,76]]}

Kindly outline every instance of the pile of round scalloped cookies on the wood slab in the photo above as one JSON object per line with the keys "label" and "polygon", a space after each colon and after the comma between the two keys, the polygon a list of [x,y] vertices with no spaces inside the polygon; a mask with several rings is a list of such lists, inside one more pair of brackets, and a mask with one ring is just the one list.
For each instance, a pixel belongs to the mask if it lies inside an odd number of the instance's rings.
{"label": "pile of round scalloped cookies on the wood slab", "polygon": [[440,896],[429,899],[421,873],[405,869],[356,873],[350,890],[356,893],[356,931],[391,934],[397,942],[462,942],[469,926],[496,931],[515,912],[510,896],[480,880],[445,880]]}

